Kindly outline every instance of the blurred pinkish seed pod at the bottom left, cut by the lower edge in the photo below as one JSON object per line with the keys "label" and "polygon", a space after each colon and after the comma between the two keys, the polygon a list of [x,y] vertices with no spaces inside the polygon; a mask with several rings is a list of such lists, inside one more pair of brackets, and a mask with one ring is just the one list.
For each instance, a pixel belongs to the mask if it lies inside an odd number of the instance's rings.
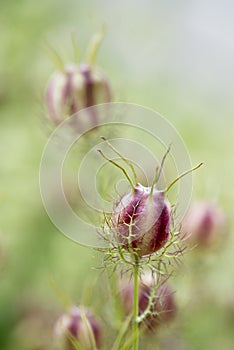
{"label": "blurred pinkish seed pod at the bottom left, cut by the lower edge", "polygon": [[102,329],[89,310],[74,306],[56,322],[55,335],[68,350],[75,350],[76,342],[84,350],[93,350],[101,346]]}

